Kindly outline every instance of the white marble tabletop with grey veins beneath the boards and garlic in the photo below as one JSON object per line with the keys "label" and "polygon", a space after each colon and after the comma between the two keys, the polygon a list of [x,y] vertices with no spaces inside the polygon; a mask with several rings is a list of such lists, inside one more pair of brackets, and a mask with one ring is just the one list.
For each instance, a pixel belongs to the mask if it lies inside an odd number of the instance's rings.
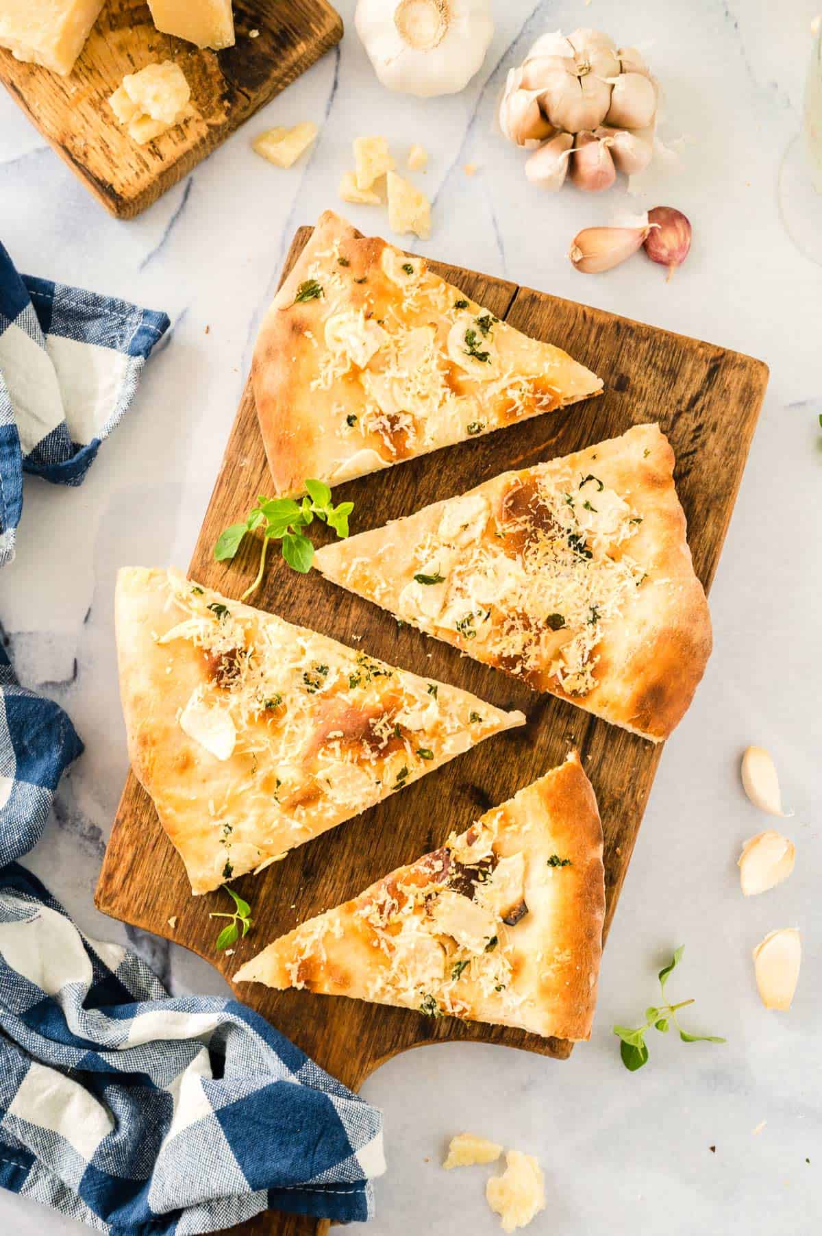
{"label": "white marble tabletop with grey veins beneath the boards and garlic", "polygon": [[[565,1064],[455,1044],[383,1067],[365,1088],[384,1109],[389,1159],[375,1236],[499,1230],[483,1200],[487,1169],[439,1168],[446,1138],[464,1127],[539,1156],[548,1209],[534,1232],[820,1230],[822,269],[787,240],[776,198],[817,6],[497,0],[480,77],[456,98],[420,103],[376,83],[344,0],[340,49],[132,222],[104,215],[0,98],[0,237],[19,267],[163,308],[173,321],[83,488],[27,483],[19,557],[0,575],[0,619],[21,679],[58,698],[87,744],[30,865],[89,932],[127,934],[174,991],[224,986],[205,963],[135,939],[91,904],[126,772],[114,575],[122,564],[188,561],[281,260],[295,226],[334,204],[351,140],[377,130],[400,148],[430,148],[434,232],[420,252],[737,347],[771,368],[711,598],[713,658],[661,763],[604,957],[592,1041]],[[634,203],[622,190],[541,195],[522,178],[519,152],[492,131],[504,72],[529,41],[581,23],[648,46],[666,88],[667,132],[687,138],[681,169],[660,176],[656,200],[640,199],[692,219],[692,253],[671,284],[643,258],[607,276],[577,274],[565,257],[575,231]],[[265,124],[307,119],[321,133],[295,168],[276,171],[251,152]],[[473,179],[466,162],[480,167]],[[386,226],[370,208],[349,214],[366,230]],[[739,786],[748,743],[776,755],[799,850],[790,883],[750,902],[734,860],[740,840],[768,824]],[[799,993],[790,1014],[766,1012],[750,949],[789,925],[803,933]],[[629,1074],[609,1027],[654,1000],[655,970],[679,943],[686,954],[671,993],[696,996],[689,1023],[728,1043],[655,1036],[650,1064]],[[75,1225],[0,1194],[0,1230],[35,1236]]]}

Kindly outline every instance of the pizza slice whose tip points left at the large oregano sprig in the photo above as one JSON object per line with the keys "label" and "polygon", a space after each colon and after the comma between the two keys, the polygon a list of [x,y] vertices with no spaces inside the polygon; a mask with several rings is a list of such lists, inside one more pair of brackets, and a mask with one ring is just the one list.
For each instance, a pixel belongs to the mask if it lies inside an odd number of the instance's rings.
{"label": "pizza slice whose tip points left at the large oregano sprig", "polygon": [[659,742],[711,653],[674,451],[659,425],[320,549],[329,580],[404,622]]}

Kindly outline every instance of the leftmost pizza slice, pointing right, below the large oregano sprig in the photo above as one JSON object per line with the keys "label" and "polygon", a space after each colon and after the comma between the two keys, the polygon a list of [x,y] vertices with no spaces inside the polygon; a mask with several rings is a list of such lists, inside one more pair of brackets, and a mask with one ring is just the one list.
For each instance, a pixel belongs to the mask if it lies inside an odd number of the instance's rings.
{"label": "leftmost pizza slice, pointing right, below the large oregano sprig", "polygon": [[115,611],[131,764],[193,892],[525,721],[174,571],[121,570]]}

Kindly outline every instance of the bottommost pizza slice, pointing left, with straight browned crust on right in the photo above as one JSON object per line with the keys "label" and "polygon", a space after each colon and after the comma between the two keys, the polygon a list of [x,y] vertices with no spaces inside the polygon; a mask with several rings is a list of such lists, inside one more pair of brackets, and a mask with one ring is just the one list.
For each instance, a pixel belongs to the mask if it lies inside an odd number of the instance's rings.
{"label": "bottommost pizza slice, pointing left, with straight browned crust on right", "polygon": [[235,983],[588,1038],[602,827],[576,751],[460,836],[302,923]]}

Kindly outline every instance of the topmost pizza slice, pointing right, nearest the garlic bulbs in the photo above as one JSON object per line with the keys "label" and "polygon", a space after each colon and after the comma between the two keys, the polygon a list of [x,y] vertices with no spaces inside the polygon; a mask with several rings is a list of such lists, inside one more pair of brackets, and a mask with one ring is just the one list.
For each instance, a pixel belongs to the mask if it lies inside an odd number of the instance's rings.
{"label": "topmost pizza slice, pointing right, nearest the garlic bulbs", "polygon": [[331,211],[262,323],[252,382],[278,497],[602,393],[561,349]]}

